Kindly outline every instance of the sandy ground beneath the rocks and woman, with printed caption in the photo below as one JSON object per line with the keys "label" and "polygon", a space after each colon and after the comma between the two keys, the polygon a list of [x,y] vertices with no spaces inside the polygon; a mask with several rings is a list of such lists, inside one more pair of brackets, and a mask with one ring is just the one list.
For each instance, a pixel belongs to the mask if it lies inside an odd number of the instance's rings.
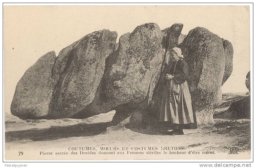
{"label": "sandy ground beneath the rocks and woman, with printed caption", "polygon": [[[219,109],[224,108],[227,107],[222,105]],[[170,135],[168,128],[156,126],[107,132],[106,128],[111,126],[114,114],[115,110],[87,119],[21,120],[5,113],[5,159],[169,160],[250,159],[251,156],[251,122],[248,119],[214,119],[215,125],[184,130],[185,135]],[[72,150],[72,147],[91,147],[91,150]],[[111,150],[101,147],[111,147]],[[113,147],[116,147],[116,150],[112,150]],[[228,154],[231,147],[239,148],[239,154]],[[21,151],[23,155],[18,156]],[[77,154],[71,154],[72,151]],[[53,154],[40,155],[40,152]],[[197,154],[192,154],[196,152]],[[212,154],[206,154],[207,152]]]}

